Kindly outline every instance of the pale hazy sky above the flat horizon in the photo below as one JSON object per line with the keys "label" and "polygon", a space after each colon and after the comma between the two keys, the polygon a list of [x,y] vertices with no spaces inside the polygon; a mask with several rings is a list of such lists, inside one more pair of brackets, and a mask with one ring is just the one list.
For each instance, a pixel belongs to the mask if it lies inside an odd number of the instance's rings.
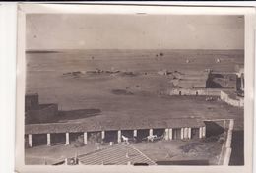
{"label": "pale hazy sky above the flat horizon", "polygon": [[243,49],[243,16],[29,14],[27,49]]}

